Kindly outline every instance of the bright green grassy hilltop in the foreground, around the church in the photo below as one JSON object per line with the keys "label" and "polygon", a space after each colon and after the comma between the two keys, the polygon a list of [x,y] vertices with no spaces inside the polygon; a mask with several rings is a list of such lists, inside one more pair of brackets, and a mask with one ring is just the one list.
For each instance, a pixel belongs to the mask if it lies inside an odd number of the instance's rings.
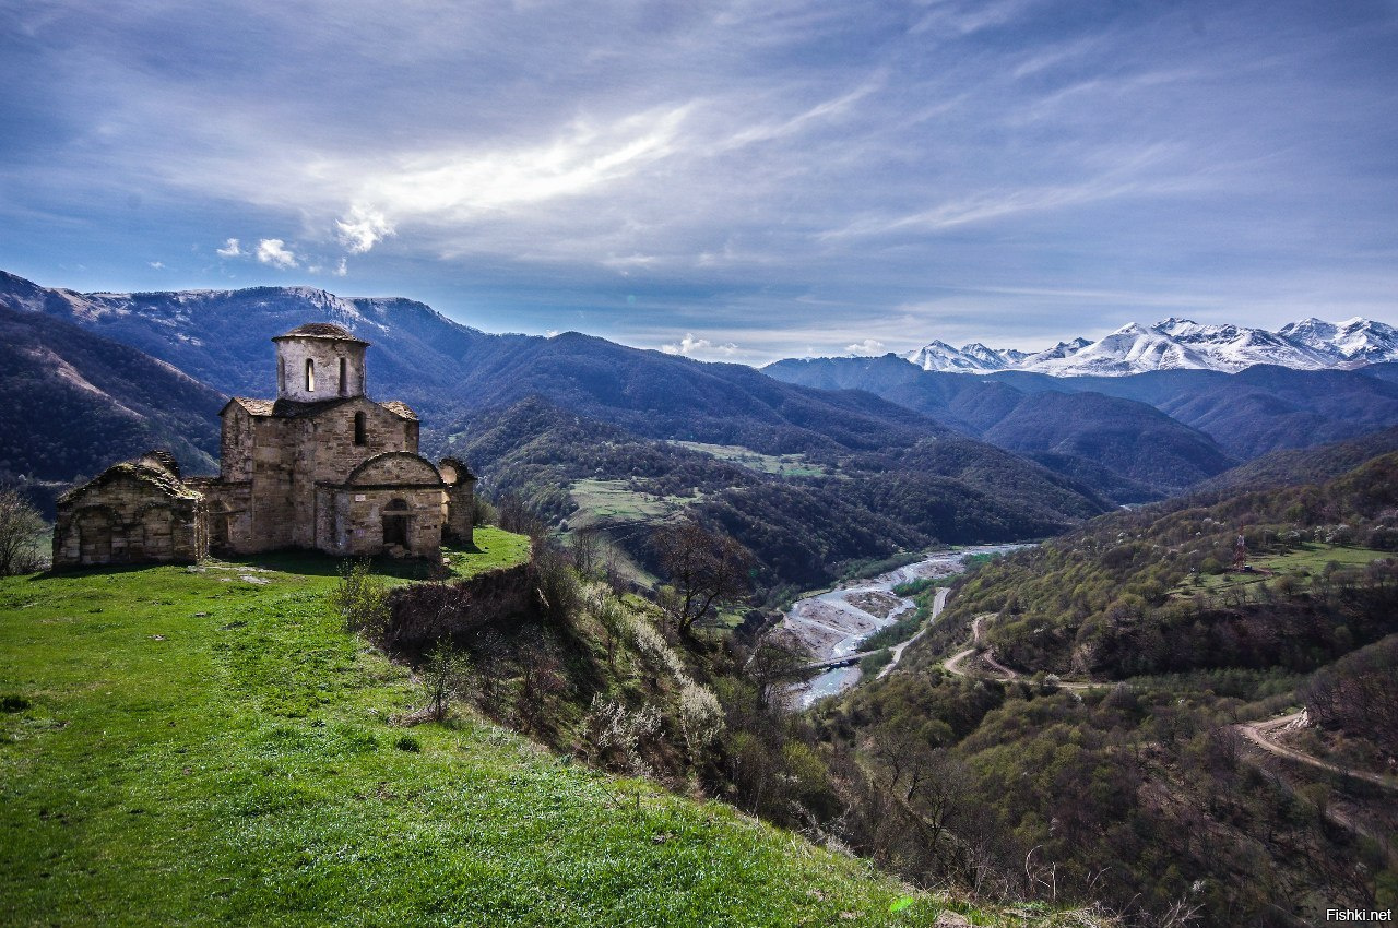
{"label": "bright green grassy hilltop in the foreground, around the church", "polygon": [[[509,563],[521,542],[482,531],[454,566]],[[0,921],[935,918],[935,900],[900,901],[865,865],[721,804],[474,718],[390,727],[421,697],[341,630],[334,583],[333,562],[292,555],[0,580]]]}

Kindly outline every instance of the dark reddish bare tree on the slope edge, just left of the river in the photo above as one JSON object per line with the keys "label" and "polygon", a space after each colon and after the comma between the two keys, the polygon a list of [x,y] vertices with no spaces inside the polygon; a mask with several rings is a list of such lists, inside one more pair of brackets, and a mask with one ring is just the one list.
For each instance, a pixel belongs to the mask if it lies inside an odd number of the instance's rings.
{"label": "dark reddish bare tree on the slope edge, just left of the river", "polygon": [[668,611],[681,635],[724,602],[752,591],[752,552],[737,539],[684,519],[656,531],[660,567],[670,577]]}

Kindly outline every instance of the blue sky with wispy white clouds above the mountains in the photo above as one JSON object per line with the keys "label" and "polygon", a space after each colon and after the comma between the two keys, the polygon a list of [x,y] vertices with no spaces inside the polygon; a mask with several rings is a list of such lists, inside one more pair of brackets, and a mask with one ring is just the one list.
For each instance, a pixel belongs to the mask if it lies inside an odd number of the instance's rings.
{"label": "blue sky with wispy white clouds above the mountains", "polygon": [[1398,1],[0,0],[0,268],[709,361],[1398,323]]}

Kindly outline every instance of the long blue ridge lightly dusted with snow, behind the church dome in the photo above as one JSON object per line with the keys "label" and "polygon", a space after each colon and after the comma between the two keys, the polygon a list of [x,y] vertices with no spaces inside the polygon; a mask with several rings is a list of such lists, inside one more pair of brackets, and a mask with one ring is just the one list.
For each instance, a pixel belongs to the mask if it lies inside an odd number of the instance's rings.
{"label": "long blue ridge lightly dusted with snow, behind the church dome", "polygon": [[0,273],[0,305],[66,319],[250,396],[274,391],[273,335],[308,320],[333,321],[373,342],[370,394],[412,404],[428,430],[468,409],[542,394],[650,437],[763,451],[909,446],[944,432],[870,396],[829,396],[751,368],[705,365],[577,333],[489,335],[407,299],[273,287],[84,295]]}

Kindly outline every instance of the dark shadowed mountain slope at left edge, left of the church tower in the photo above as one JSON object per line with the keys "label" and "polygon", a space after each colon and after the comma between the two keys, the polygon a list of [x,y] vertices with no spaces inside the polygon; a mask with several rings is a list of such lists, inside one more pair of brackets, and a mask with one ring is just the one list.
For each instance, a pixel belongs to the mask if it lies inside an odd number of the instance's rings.
{"label": "dark shadowed mountain slope at left edge, left of the church tower", "polygon": [[212,472],[225,400],[134,348],[0,307],[0,474],[64,485],[157,446]]}

